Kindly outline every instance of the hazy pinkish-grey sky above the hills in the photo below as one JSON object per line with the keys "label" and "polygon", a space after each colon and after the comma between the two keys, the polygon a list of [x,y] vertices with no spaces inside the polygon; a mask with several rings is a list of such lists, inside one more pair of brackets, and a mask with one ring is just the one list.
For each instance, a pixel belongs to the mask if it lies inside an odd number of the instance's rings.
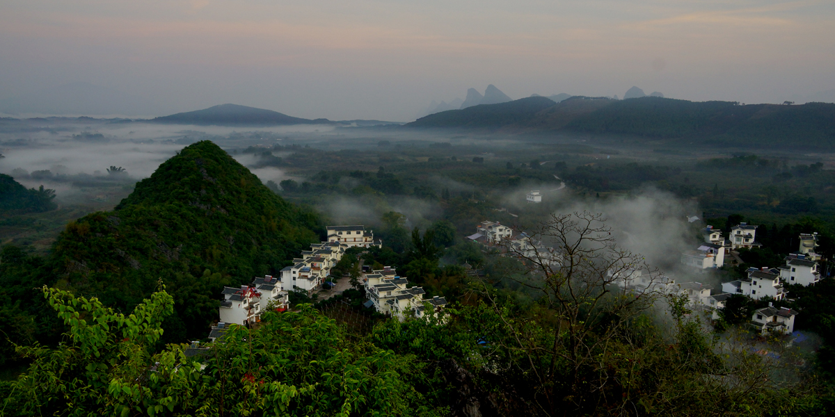
{"label": "hazy pinkish-grey sky above the hills", "polygon": [[157,114],[239,103],[412,120],[495,84],[777,102],[835,88],[835,2],[4,0],[0,98],[63,83]]}

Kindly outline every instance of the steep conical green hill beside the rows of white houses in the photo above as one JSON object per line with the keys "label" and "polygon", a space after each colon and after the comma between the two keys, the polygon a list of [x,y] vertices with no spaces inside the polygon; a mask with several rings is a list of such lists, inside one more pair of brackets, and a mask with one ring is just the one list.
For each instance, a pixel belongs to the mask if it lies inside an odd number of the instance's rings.
{"label": "steep conical green hill beside the rows of white houses", "polygon": [[277,274],[317,242],[317,221],[203,141],[162,163],[113,212],[68,224],[51,263],[73,291],[124,309],[161,279],[176,301],[165,338],[183,341],[205,336],[224,284]]}

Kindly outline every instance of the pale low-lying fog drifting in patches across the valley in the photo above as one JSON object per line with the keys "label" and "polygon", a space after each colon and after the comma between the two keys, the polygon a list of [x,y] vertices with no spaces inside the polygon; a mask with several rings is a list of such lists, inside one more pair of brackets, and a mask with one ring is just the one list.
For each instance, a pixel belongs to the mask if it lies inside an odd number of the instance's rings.
{"label": "pale low-lying fog drifting in patches across the valley", "polygon": [[[463,145],[478,143],[472,137],[433,137],[391,129],[351,129],[332,126],[287,126],[276,128],[225,128],[206,126],[159,125],[151,123],[29,123],[18,128],[4,127],[0,131],[0,173],[12,175],[27,187],[44,185],[57,192],[58,203],[104,203],[104,208],[119,203],[133,185],[148,177],[167,158],[181,148],[199,140],[212,140],[225,148],[240,163],[251,169],[264,183],[280,183],[295,178],[301,183],[306,178],[288,173],[284,168],[268,166],[256,153],[243,150],[252,146],[273,147],[293,144],[312,148],[365,149],[382,152],[378,143],[385,139],[394,143],[409,141],[443,141]],[[519,147],[514,138],[491,138],[490,151],[485,158],[503,160],[503,149]],[[277,158],[287,158],[293,151],[273,150]],[[111,168],[117,168],[113,170]],[[118,168],[122,168],[120,170]],[[340,184],[355,187],[350,177],[342,177]],[[426,185],[447,189],[455,195],[473,193],[473,186],[458,182],[439,173],[429,173]],[[700,213],[691,200],[682,201],[669,193],[654,189],[638,190],[629,197],[608,199],[579,198],[562,179],[526,183],[519,188],[504,190],[498,199],[499,213],[519,213],[529,209],[524,195],[539,189],[545,198],[558,201],[559,211],[589,210],[603,213],[608,225],[617,232],[619,244],[636,253],[644,254],[651,264],[663,269],[676,269],[678,254],[693,244],[692,225],[686,217]],[[475,194],[473,194],[475,195]],[[372,227],[380,224],[380,217],[397,211],[408,219],[408,226],[426,227],[427,219],[438,219],[443,208],[438,203],[412,197],[379,198],[341,195],[324,196],[316,207],[328,219],[337,223],[362,223]],[[504,212],[501,210],[504,209]],[[520,227],[530,227],[521,224]],[[473,231],[475,233],[475,225]]]}

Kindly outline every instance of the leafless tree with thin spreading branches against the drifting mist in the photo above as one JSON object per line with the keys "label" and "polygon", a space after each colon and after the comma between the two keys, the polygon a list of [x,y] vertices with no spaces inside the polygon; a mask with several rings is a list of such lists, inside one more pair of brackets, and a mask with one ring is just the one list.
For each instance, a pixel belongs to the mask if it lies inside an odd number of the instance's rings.
{"label": "leafless tree with thin spreading branches against the drifting mist", "polygon": [[[589,406],[590,387],[597,382],[587,378],[600,366],[598,355],[631,319],[653,307],[662,282],[640,255],[616,246],[604,222],[588,212],[552,214],[531,242],[543,239],[553,247],[508,246],[528,266],[527,275],[511,279],[536,294],[543,319],[510,314],[490,290],[484,291],[509,335],[498,343],[519,357],[514,365],[530,375],[534,398],[545,410],[564,407],[564,398],[575,409]],[[645,286],[625,291],[622,284],[629,284],[625,280],[635,271],[645,272]]]}

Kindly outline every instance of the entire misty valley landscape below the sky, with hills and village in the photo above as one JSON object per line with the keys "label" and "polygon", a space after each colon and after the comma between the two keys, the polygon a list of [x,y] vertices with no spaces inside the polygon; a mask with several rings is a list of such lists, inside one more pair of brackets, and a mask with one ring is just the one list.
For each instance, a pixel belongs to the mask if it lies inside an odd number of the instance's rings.
{"label": "entire misty valley landscape below the sky, with hills and village", "polygon": [[0,118],[0,415],[831,415],[835,104],[658,94]]}

